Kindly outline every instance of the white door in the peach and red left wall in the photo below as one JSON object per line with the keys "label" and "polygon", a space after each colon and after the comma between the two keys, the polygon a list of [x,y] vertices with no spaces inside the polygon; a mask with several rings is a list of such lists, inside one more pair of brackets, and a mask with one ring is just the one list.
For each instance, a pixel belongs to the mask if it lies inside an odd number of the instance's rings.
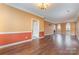
{"label": "white door in the peach and red left wall", "polygon": [[39,22],[38,21],[33,21],[33,32],[32,32],[32,38],[37,39],[39,38]]}

